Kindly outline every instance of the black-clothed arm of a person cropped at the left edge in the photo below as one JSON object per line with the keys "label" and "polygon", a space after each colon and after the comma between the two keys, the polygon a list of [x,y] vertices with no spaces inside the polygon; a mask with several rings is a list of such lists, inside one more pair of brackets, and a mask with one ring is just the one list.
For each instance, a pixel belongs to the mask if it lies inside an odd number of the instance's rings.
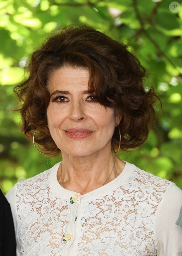
{"label": "black-clothed arm of a person cropped at the left edge", "polygon": [[15,256],[16,243],[10,205],[0,190],[0,255]]}

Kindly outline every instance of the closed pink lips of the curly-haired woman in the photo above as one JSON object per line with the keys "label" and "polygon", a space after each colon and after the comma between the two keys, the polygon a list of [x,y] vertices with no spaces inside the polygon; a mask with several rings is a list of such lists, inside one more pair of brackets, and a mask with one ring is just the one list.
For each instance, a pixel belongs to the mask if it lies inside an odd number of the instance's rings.
{"label": "closed pink lips of the curly-haired woman", "polygon": [[70,128],[65,130],[65,133],[72,139],[84,139],[90,136],[93,131],[84,128]]}

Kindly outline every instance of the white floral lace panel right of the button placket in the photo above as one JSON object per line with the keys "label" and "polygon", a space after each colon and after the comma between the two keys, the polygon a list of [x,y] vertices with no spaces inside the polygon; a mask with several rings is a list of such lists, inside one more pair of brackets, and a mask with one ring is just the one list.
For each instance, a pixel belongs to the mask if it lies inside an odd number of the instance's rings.
{"label": "white floral lace panel right of the button placket", "polygon": [[137,168],[124,186],[88,203],[78,255],[157,255],[155,212],[170,184]]}

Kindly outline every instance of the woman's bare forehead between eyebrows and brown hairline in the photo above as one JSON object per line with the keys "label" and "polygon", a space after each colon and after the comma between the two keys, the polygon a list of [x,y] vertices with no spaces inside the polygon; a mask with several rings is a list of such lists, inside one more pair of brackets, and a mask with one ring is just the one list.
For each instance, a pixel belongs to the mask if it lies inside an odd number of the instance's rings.
{"label": "woman's bare forehead between eyebrows and brown hairline", "polygon": [[[56,87],[88,87],[89,71],[86,68],[64,66],[54,71],[49,78],[49,90]],[[58,88],[57,88],[58,89]]]}

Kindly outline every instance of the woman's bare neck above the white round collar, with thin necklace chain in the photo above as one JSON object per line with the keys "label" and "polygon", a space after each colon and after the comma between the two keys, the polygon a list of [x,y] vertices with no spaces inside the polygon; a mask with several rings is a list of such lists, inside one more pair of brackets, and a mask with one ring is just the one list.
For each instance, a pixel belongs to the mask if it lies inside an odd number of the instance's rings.
{"label": "woman's bare neck above the white round collar, with thin necklace chain", "polygon": [[[57,179],[63,187],[81,194],[95,190],[115,179],[124,167],[113,153],[105,152],[87,157],[72,157],[62,152],[63,160]],[[123,162],[122,162],[123,163]],[[62,175],[61,175],[62,173]],[[63,182],[62,182],[63,181]]]}

